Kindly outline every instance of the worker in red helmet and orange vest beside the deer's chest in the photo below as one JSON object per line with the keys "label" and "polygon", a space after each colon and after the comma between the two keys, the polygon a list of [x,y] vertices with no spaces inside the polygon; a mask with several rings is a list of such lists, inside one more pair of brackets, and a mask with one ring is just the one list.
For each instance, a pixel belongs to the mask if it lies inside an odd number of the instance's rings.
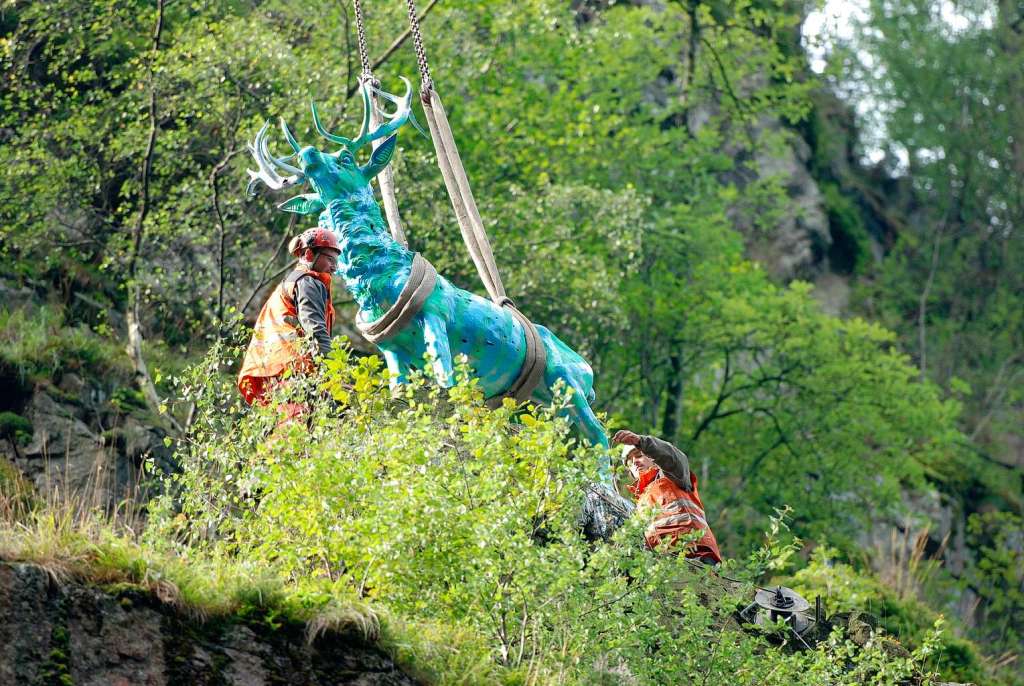
{"label": "worker in red helmet and orange vest beside the deer's chest", "polygon": [[[265,404],[286,371],[308,372],[331,350],[331,274],[341,254],[338,239],[329,229],[310,228],[292,239],[288,249],[299,261],[260,310],[239,370],[239,390],[249,404]],[[303,350],[303,335],[313,339],[313,355]],[[301,403],[281,405],[286,422],[304,411]]]}

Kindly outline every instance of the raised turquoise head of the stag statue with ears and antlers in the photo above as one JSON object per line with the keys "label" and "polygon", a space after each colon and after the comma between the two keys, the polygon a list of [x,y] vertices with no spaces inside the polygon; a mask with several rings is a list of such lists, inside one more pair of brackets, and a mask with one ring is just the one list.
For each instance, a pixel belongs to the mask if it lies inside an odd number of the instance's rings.
{"label": "raised turquoise head of the stag statue with ears and antlers", "polygon": [[[319,113],[316,112],[316,104],[310,103],[316,132],[331,142],[341,145],[334,153],[324,153],[312,145],[300,146],[291,129],[288,128],[288,124],[282,118],[281,130],[292,146],[294,155],[283,158],[274,157],[267,146],[270,123],[263,124],[259,133],[256,134],[256,138],[248,143],[249,153],[252,154],[257,167],[259,167],[257,171],[248,170],[251,179],[248,192],[253,195],[260,182],[272,190],[309,183],[313,192],[290,198],[279,206],[286,212],[297,214],[318,214],[332,201],[345,200],[355,195],[365,194],[370,186],[370,181],[391,161],[397,138],[395,131],[409,121],[413,88],[409,81],[406,79],[402,81],[406,83],[406,94],[401,97],[381,90],[374,91],[384,99],[395,103],[397,109],[387,117],[387,122],[373,131],[370,130],[371,108],[373,108],[371,90],[373,86],[369,83],[362,84],[359,89],[362,94],[362,126],[359,129],[359,135],[355,138],[345,138],[325,129],[321,123]],[[356,163],[355,154],[359,148],[385,136],[390,137],[377,146],[367,164]],[[292,158],[297,160],[297,167],[289,163]],[[282,175],[282,172],[285,175]]]}

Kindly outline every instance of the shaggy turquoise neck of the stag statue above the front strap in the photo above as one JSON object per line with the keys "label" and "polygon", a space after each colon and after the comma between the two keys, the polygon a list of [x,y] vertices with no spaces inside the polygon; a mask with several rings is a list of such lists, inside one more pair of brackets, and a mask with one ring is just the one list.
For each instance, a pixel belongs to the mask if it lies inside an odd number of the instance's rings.
{"label": "shaggy turquoise neck of the stag statue above the front strap", "polygon": [[332,200],[319,224],[338,237],[338,273],[368,319],[381,316],[401,292],[413,253],[388,232],[370,186]]}

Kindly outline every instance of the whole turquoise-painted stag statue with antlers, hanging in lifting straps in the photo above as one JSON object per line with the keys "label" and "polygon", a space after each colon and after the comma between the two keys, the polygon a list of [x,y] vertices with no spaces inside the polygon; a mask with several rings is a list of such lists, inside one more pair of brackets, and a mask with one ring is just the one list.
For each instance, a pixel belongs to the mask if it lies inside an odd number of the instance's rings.
{"label": "whole turquoise-painted stag statue with antlers, hanging in lifting straps", "polygon": [[[368,132],[372,105],[369,87],[364,87],[364,124],[355,139],[326,131],[313,105],[316,130],[341,145],[336,153],[300,146],[284,121],[282,130],[294,156],[269,155],[268,124],[249,145],[259,166],[259,171],[249,172],[253,179],[250,191],[258,181],[273,189],[300,183],[311,186],[313,192],[292,198],[280,207],[288,212],[318,214],[319,226],[338,237],[341,255],[337,273],[359,307],[357,323],[364,324],[378,320],[395,303],[410,281],[415,257],[415,253],[391,238],[370,185],[390,161],[397,135],[394,132],[410,116],[411,89],[402,98],[378,93],[397,103],[397,111],[390,121]],[[356,164],[354,156],[359,147],[385,137],[369,163]],[[297,167],[287,162],[292,157],[297,158]],[[283,177],[278,170],[291,176]],[[547,359],[543,380],[531,399],[549,402],[553,397],[552,387],[562,382],[572,391],[565,411],[571,423],[591,444],[607,448],[607,434],[590,405],[594,399],[590,365],[545,327],[537,326],[537,331]],[[508,308],[460,289],[438,274],[419,312],[393,336],[378,341],[377,346],[384,353],[393,384],[402,383],[412,370],[429,365],[425,371],[438,384],[449,387],[454,383],[453,360],[465,355],[484,396],[494,397],[505,393],[515,382],[526,355],[526,334]],[[601,480],[611,486],[607,451],[604,453]]]}

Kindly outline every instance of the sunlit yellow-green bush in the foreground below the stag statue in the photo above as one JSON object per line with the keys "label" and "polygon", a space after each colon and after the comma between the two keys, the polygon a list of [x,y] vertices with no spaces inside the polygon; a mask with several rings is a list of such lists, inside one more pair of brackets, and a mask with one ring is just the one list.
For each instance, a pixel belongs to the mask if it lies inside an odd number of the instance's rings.
{"label": "sunlit yellow-green bush in the foreground below the stag statue", "polygon": [[[749,584],[646,550],[639,517],[611,544],[586,542],[580,505],[596,456],[559,417],[564,393],[550,406],[490,411],[465,367],[451,389],[415,378],[392,391],[378,357],[336,346],[317,375],[291,377],[273,402],[247,409],[222,352],[179,381],[197,419],[177,453],[182,470],[152,509],[154,545],[266,565],[288,584],[319,578],[396,621],[447,627],[489,666],[463,664],[480,679],[470,683],[920,676],[924,653],[897,663],[839,635],[805,653],[769,646],[733,615]],[[283,401],[304,403],[303,420],[282,424]],[[783,533],[727,568],[753,577],[777,567],[794,550]],[[441,683],[464,676],[435,673]]]}

